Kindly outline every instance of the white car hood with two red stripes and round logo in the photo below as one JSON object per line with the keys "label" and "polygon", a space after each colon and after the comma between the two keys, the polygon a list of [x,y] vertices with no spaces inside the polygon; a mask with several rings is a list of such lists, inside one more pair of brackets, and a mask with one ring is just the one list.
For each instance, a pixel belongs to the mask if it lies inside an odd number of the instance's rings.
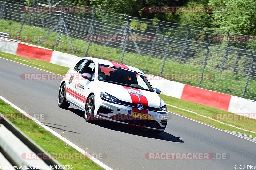
{"label": "white car hood with two red stripes and round logo", "polygon": [[[105,90],[106,93],[118,98],[121,101],[130,103],[141,103],[154,108],[161,107],[161,98],[155,92],[130,88],[104,81],[98,81],[97,84]],[[146,104],[145,104],[146,103]]]}

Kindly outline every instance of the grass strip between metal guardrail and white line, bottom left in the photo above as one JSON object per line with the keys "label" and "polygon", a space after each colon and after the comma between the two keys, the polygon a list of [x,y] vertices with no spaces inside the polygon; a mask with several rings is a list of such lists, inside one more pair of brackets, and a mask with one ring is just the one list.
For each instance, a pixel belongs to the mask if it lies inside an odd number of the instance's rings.
{"label": "grass strip between metal guardrail and white line, bottom left", "polygon": [[[0,112],[12,114],[13,117],[24,117],[18,110],[0,100]],[[33,120],[10,120],[15,126],[23,131],[29,138],[41,146],[47,153],[80,153],[70,145],[66,144],[52,133],[39,126]],[[85,157],[84,157],[85,158]],[[90,159],[58,159],[62,165],[72,165],[73,169],[102,169]]]}

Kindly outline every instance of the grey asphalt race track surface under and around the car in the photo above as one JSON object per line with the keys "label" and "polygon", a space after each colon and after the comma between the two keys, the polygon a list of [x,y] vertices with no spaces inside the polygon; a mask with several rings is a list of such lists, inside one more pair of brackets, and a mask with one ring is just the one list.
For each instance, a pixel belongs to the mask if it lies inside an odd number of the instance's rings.
{"label": "grey asphalt race track surface under and around the car", "polygon": [[[22,80],[22,73],[45,73],[0,58],[0,95],[30,114],[46,114],[42,123],[86,152],[103,153],[113,169],[234,169],[256,166],[256,143],[174,114],[165,132],[150,136],[145,129],[112,122],[94,124],[74,107],[57,106],[60,81]],[[228,159],[148,160],[147,153],[227,153]]]}

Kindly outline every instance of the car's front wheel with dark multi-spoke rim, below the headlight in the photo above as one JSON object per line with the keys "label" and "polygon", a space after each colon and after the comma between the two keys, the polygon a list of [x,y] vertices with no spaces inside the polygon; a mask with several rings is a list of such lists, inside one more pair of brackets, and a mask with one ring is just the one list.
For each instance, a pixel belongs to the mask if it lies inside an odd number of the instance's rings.
{"label": "car's front wheel with dark multi-spoke rim, below the headlight", "polygon": [[88,97],[85,104],[84,119],[86,122],[92,122],[95,109],[95,96],[91,95]]}

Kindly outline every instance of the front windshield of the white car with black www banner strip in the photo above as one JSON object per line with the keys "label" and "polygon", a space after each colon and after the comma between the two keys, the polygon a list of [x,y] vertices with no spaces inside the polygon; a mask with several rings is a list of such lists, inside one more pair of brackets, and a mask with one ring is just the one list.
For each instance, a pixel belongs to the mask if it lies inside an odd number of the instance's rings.
{"label": "front windshield of the white car with black www banner strip", "polygon": [[144,74],[125,68],[99,64],[98,80],[153,92]]}

